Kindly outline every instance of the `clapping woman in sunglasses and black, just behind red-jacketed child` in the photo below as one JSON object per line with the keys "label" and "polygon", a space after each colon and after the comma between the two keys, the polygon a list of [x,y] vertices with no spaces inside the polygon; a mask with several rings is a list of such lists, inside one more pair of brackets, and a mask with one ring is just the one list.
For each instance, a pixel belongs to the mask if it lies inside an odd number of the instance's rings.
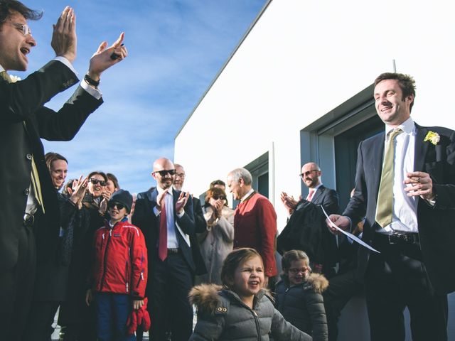
{"label": "clapping woman in sunglasses and black, just behind red-jacketed child", "polygon": [[64,341],[96,340],[95,309],[85,304],[86,281],[92,266],[93,237],[107,219],[107,202],[112,193],[106,189],[107,175],[104,172],[93,171],[87,178],[87,193],[82,200],[85,220],[74,231],[68,299],[60,306],[58,316]]}

